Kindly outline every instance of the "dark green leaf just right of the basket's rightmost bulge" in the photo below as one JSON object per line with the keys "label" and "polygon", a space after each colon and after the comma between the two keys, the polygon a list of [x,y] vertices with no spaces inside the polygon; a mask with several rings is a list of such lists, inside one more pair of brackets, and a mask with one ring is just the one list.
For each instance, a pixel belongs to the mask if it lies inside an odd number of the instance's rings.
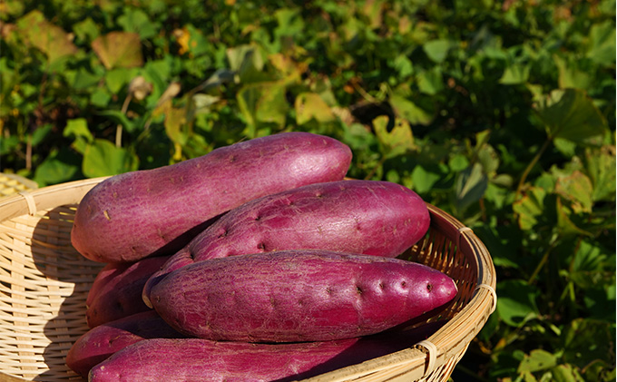
{"label": "dark green leaf just right of the basket's rightmost bulge", "polygon": [[522,327],[538,316],[535,299],[538,290],[522,279],[509,279],[497,283],[496,312],[506,325]]}

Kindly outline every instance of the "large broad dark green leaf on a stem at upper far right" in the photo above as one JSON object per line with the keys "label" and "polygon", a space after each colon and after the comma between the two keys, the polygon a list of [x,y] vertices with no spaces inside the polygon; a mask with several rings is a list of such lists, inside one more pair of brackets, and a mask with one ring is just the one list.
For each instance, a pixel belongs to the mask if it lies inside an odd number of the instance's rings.
{"label": "large broad dark green leaf on a stem at upper far right", "polygon": [[551,139],[598,142],[607,129],[602,113],[580,90],[555,90],[543,101],[536,103],[535,109]]}

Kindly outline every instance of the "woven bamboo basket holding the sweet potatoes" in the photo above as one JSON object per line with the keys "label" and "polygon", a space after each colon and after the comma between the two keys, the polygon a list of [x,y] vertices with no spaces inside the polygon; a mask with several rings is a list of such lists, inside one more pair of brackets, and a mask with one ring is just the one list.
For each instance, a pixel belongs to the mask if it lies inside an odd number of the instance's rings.
{"label": "woven bamboo basket holding the sweet potatoes", "polygon": [[[70,240],[83,195],[104,178],[73,181],[0,198],[0,382],[82,380],[64,364],[88,328],[85,299],[102,263]],[[387,356],[306,381],[446,381],[495,310],[495,268],[472,230],[429,205],[431,227],[408,250],[455,279],[458,294],[439,317],[446,325]]]}

